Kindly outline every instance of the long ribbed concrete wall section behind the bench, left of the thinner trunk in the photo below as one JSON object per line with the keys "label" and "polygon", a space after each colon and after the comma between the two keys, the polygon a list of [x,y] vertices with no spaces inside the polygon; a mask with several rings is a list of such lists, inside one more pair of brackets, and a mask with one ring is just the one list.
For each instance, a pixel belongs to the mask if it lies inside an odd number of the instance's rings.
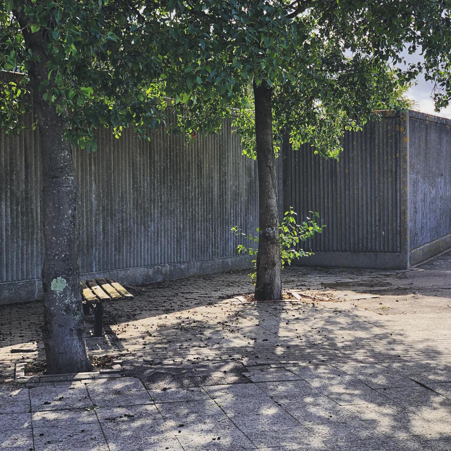
{"label": "long ribbed concrete wall section behind the bench, left of the thinner trunk", "polygon": [[[258,226],[257,166],[230,121],[190,146],[163,129],[150,143],[102,130],[75,164],[83,276],[133,284],[249,267],[230,228]],[[41,296],[40,198],[37,131],[0,133],[0,302]]]}

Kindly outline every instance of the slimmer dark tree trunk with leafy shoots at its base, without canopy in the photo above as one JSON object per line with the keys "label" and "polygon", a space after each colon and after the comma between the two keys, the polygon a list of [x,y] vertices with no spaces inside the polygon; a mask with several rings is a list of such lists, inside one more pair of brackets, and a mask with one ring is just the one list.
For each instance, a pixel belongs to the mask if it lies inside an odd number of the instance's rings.
{"label": "slimmer dark tree trunk with leafy shoots at its base, without canopy", "polygon": [[264,85],[253,87],[255,99],[255,136],[258,165],[258,223],[255,299],[282,299],[281,259],[277,203],[276,157],[272,144],[272,90]]}

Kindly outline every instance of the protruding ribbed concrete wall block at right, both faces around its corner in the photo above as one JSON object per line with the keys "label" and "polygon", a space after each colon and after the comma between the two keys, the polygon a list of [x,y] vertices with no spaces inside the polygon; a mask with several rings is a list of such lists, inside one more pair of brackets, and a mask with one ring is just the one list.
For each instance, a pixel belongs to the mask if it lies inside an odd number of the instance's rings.
{"label": "protruding ribbed concrete wall block at right, both faces around its corner", "polygon": [[333,161],[285,143],[285,208],[327,225],[295,264],[400,269],[451,247],[451,120],[384,114],[343,147]]}

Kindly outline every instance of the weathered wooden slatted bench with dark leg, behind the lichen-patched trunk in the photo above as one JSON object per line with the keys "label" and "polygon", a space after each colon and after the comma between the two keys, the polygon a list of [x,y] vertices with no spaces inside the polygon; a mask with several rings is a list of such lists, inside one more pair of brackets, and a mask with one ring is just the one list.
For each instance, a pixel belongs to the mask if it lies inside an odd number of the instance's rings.
{"label": "weathered wooden slatted bench with dark leg, behind the lichen-patched trunk", "polygon": [[83,313],[88,315],[92,310],[94,313],[94,336],[103,335],[103,306],[111,301],[119,299],[133,299],[125,288],[108,277],[105,279],[87,279],[80,281],[80,291],[82,295]]}

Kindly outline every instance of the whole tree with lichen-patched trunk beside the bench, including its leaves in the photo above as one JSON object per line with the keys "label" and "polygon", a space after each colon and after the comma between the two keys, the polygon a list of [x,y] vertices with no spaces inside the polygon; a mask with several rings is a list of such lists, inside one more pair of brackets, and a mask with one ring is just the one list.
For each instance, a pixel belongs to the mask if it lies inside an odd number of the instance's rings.
{"label": "whole tree with lichen-patched trunk beside the bench, including its leaves", "polygon": [[[82,315],[73,146],[94,130],[130,126],[144,138],[164,120],[164,27],[157,3],[1,0],[0,126],[21,128],[28,103],[41,139],[44,345],[49,373],[88,371]],[[28,97],[27,97],[28,96]]]}

